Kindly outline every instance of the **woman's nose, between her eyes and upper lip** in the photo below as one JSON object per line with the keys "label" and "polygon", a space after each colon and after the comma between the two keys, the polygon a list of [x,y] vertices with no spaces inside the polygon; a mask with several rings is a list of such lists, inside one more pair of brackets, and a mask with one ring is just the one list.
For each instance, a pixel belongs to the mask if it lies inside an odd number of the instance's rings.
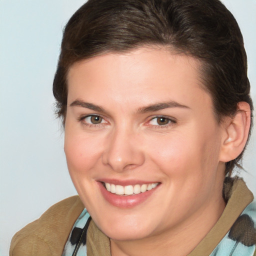
{"label": "woman's nose, between her eyes and upper lip", "polygon": [[133,169],[144,162],[144,153],[139,134],[131,129],[112,130],[102,153],[102,163],[114,171]]}

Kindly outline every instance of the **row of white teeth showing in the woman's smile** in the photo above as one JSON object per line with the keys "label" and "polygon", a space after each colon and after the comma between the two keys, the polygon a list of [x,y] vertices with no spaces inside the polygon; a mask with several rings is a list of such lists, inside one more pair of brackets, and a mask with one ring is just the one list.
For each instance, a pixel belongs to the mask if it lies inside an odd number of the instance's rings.
{"label": "row of white teeth showing in the woman's smile", "polygon": [[159,182],[157,183],[148,183],[148,184],[135,184],[135,185],[115,185],[107,182],[102,182],[105,186],[106,190],[110,193],[117,195],[134,195],[139,193],[144,193],[155,188]]}

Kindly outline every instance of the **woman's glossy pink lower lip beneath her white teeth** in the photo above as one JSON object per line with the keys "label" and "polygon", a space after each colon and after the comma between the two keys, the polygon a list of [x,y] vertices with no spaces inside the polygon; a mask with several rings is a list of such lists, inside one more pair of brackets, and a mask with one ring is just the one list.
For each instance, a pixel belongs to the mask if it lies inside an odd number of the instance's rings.
{"label": "woman's glossy pink lower lip beneath her white teeth", "polygon": [[134,207],[142,202],[144,202],[158,187],[158,185],[151,190],[145,191],[143,193],[139,194],[132,194],[132,195],[117,195],[114,193],[111,193],[106,190],[105,186],[101,183],[99,183],[100,191],[104,197],[105,200],[107,200],[109,203],[116,207],[120,208],[131,208]]}

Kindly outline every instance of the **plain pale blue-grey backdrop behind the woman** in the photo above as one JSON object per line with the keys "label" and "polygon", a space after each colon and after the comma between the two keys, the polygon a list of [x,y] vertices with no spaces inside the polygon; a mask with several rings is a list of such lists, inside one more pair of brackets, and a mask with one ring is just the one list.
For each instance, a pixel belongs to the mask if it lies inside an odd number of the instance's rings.
{"label": "plain pale blue-grey backdrop behind the woman", "polygon": [[[0,255],[13,234],[76,194],[55,118],[52,79],[62,29],[84,0],[0,0]],[[256,102],[256,0],[223,0],[242,30]],[[256,132],[241,171],[256,192]]]}

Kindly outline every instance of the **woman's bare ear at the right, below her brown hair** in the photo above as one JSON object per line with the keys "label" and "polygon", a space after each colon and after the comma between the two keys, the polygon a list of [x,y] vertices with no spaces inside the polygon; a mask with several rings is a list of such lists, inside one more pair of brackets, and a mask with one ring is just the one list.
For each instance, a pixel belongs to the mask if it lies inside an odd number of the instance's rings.
{"label": "woman's bare ear at the right, below her brown hair", "polygon": [[239,102],[233,117],[225,117],[222,122],[223,134],[220,149],[220,161],[235,159],[243,150],[250,128],[250,106]]}

